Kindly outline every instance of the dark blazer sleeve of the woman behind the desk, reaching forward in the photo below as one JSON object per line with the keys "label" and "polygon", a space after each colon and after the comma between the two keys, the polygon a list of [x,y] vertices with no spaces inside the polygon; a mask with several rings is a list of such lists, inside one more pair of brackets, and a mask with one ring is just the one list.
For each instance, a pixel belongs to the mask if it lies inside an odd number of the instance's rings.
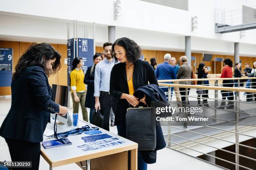
{"label": "dark blazer sleeve of the woman behind the desk, reaching forward", "polygon": [[59,112],[59,105],[51,100],[47,88],[47,77],[43,70],[32,69],[27,73],[27,80],[32,87],[32,94],[44,110],[51,113]]}

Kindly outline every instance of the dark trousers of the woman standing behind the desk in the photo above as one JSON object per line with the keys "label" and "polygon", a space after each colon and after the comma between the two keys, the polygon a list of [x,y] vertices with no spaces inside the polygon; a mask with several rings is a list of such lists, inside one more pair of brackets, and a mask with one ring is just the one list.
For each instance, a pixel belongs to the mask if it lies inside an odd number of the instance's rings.
{"label": "dark trousers of the woman standing behind the desk", "polygon": [[[32,161],[32,168],[38,170],[40,162],[40,143],[23,140],[6,139],[12,161]],[[12,168],[13,170],[24,170],[26,168]]]}

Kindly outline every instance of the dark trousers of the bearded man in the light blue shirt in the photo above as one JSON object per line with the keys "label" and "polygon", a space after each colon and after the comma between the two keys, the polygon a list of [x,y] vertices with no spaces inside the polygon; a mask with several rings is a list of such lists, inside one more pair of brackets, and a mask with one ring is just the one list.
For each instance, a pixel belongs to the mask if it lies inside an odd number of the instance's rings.
{"label": "dark trousers of the bearded man in the light blue shirt", "polygon": [[100,92],[100,112],[104,116],[104,128],[109,131],[110,110],[115,113],[116,102],[109,92]]}

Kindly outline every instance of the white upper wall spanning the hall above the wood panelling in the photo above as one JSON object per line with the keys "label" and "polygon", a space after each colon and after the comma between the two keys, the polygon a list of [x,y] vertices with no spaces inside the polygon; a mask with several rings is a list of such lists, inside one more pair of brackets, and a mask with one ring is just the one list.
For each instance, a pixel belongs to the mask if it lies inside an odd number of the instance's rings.
{"label": "white upper wall spanning the hall above the wood panelling", "polygon": [[[0,39],[18,38],[66,44],[67,22],[74,19],[88,25],[93,38],[92,22],[97,23],[96,45],[108,41],[108,25],[116,26],[116,38],[130,37],[144,49],[184,51],[184,36],[192,36],[192,51],[233,55],[233,42],[241,42],[241,55],[256,56],[256,30],[215,33],[215,7],[241,8],[256,5],[253,0],[189,0],[189,11],[156,5],[141,0],[121,0],[121,16],[113,19],[113,0],[0,0]],[[13,18],[3,15],[16,15]],[[191,32],[191,17],[198,17],[198,29]],[[20,18],[25,17],[25,18]],[[38,18],[40,20],[28,20]],[[45,20],[54,20],[49,22]],[[58,22],[56,22],[58,21]],[[79,25],[78,37],[84,37]],[[70,37],[73,37],[70,25]]]}

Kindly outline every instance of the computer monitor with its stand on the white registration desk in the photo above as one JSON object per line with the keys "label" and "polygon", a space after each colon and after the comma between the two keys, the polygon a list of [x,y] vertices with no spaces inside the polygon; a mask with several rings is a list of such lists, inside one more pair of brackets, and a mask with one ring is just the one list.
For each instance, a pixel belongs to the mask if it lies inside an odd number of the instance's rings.
{"label": "computer monitor with its stand on the white registration desk", "polygon": [[[52,98],[53,101],[61,106],[68,107],[69,104],[69,87],[64,85],[52,85]],[[55,114],[51,114],[51,117],[55,118]],[[71,121],[69,115],[57,116],[57,120],[64,124],[70,124]],[[72,125],[72,122],[71,122]]]}

